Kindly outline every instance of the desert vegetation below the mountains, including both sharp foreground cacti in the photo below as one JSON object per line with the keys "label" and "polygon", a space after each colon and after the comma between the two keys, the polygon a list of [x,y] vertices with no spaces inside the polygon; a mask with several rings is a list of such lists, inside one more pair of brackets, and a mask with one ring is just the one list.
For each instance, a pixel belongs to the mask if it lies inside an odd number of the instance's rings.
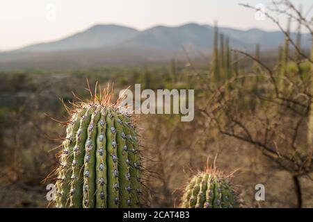
{"label": "desert vegetation below the mountains, including both sharp foreground cacti", "polygon": [[[230,36],[219,33],[216,24],[205,65],[172,58],[162,66],[0,73],[0,188],[6,184],[3,192],[13,187],[42,198],[43,185],[56,182],[57,207],[141,207],[147,202],[172,207],[181,198],[181,207],[240,207],[234,182],[245,191],[248,207],[312,207],[313,48],[297,50],[300,28],[291,42],[290,23],[278,51],[263,51],[257,44],[253,52],[232,49]],[[113,100],[135,83],[152,90],[195,89],[195,119],[182,123],[173,114],[135,116],[136,129],[145,138],[145,158],[138,164],[135,130],[125,124],[134,119],[101,103],[85,104],[68,117],[60,99],[65,107],[79,98],[86,101],[86,78],[92,87],[113,83]],[[75,153],[77,146],[81,153]],[[106,152],[99,155],[102,146]],[[216,171],[193,172],[217,153],[223,171],[242,169],[232,182]],[[145,169],[142,176],[135,163]],[[101,164],[104,171],[99,171]],[[56,173],[49,174],[56,165]],[[151,194],[141,193],[141,177]],[[172,194],[188,178],[183,197]],[[265,202],[255,200],[258,183],[271,190]],[[13,207],[25,205],[19,196],[10,201]]]}

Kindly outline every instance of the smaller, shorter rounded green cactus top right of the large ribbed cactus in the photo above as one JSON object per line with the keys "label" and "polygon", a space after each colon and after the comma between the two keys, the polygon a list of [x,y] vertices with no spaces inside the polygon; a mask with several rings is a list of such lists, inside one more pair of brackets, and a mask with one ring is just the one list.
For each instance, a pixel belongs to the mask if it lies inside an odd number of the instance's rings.
{"label": "smaller, shorter rounded green cactus top right of the large ribbed cactus", "polygon": [[240,207],[239,195],[234,186],[215,169],[207,169],[191,178],[184,189],[184,208],[232,208]]}

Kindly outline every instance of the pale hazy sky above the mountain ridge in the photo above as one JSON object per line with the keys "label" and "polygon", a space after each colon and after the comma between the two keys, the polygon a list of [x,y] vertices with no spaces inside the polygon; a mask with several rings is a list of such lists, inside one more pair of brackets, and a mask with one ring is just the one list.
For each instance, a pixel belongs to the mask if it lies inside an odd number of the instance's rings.
{"label": "pale hazy sky above the mountain ridge", "polygon": [[[308,9],[312,0],[295,0]],[[143,30],[187,22],[234,28],[277,29],[238,3],[266,0],[0,0],[0,50],[57,40],[94,24],[122,24]]]}

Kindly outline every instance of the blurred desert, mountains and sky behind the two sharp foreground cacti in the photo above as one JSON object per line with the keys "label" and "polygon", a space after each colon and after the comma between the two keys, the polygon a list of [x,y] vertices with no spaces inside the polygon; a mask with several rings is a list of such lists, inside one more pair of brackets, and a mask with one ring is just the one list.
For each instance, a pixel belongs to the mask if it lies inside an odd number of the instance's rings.
{"label": "blurred desert, mountains and sky behind the two sharp foreground cacti", "polygon": [[[312,1],[1,1],[0,207],[47,207],[74,92],[195,89],[195,119],[137,115],[152,207],[207,157],[245,207],[313,207]],[[56,120],[58,121],[56,121]],[[255,200],[263,184],[266,200]]]}

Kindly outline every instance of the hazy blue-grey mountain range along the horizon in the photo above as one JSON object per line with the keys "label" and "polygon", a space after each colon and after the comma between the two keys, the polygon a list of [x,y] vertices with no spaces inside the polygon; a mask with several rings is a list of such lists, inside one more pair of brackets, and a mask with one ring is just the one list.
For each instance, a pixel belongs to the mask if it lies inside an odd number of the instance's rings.
{"label": "hazy blue-grey mountain range along the horizon", "polygon": [[[262,51],[276,50],[284,35],[279,31],[257,28],[239,30],[220,27],[233,48],[252,51],[259,43]],[[54,69],[106,65],[137,65],[209,55],[213,47],[214,27],[200,24],[154,26],[144,31],[113,24],[99,24],[61,40],[26,46],[0,53],[0,69]],[[296,34],[291,33],[291,39]],[[309,48],[310,34],[301,35],[301,46]]]}

